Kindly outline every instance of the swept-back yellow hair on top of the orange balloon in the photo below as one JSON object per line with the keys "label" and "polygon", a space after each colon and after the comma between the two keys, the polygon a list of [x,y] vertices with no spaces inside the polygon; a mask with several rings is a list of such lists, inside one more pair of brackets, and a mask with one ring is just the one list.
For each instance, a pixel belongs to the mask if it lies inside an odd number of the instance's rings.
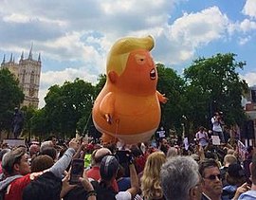
{"label": "swept-back yellow hair on top of the orange balloon", "polygon": [[131,51],[145,49],[151,51],[154,47],[152,36],[144,38],[126,37],[119,39],[110,49],[107,58],[106,72],[115,71],[120,75],[125,69]]}

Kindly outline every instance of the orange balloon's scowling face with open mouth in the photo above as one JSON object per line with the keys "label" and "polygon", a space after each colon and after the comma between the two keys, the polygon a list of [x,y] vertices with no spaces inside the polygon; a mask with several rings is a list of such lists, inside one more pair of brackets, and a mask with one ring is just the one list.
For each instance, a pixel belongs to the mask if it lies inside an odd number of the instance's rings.
{"label": "orange balloon's scowling face with open mouth", "polygon": [[126,68],[119,76],[119,86],[133,94],[154,94],[158,76],[149,51],[140,49],[129,55]]}

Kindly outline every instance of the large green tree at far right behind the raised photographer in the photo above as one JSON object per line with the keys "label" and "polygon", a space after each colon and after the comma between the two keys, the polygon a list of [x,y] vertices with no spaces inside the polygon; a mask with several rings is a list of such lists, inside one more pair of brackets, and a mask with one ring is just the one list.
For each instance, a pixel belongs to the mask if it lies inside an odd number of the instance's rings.
{"label": "large green tree at far right behind the raised photographer", "polygon": [[215,111],[224,113],[228,125],[240,124],[246,118],[241,99],[247,83],[236,72],[246,63],[236,62],[235,56],[227,53],[199,58],[184,70],[185,94],[190,102],[186,115],[193,129],[200,125],[210,127],[210,118]]}

